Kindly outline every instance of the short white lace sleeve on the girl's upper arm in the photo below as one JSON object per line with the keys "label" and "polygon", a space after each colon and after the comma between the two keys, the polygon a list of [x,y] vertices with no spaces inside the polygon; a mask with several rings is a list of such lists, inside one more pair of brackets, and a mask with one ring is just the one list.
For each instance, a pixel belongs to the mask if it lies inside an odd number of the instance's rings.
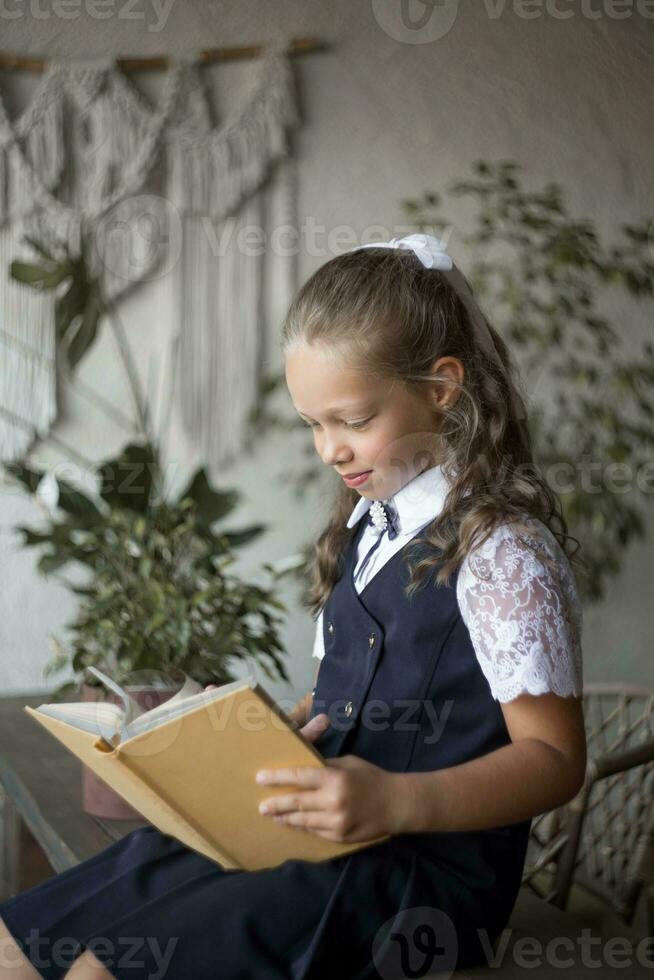
{"label": "short white lace sleeve on the girl's upper arm", "polygon": [[[550,529],[535,518],[529,526],[533,536],[525,538],[500,525],[466,557],[457,581],[461,616],[496,700],[546,691],[581,696],[582,611],[574,576]],[[555,559],[555,572],[537,557],[543,549]]]}

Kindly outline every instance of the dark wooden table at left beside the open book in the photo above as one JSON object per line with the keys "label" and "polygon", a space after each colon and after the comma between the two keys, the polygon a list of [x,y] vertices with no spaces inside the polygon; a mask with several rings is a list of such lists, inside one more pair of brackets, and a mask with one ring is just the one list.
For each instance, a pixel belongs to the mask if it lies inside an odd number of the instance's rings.
{"label": "dark wooden table at left beside the open book", "polygon": [[82,764],[23,710],[49,692],[0,698],[0,784],[4,792],[0,899],[21,889],[24,824],[54,871],[65,871],[143,827],[82,810]]}

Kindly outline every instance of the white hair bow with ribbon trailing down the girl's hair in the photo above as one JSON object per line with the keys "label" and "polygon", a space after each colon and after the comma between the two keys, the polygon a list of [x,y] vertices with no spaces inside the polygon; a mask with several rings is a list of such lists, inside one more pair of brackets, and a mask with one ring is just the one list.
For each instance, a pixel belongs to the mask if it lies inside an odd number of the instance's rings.
{"label": "white hair bow with ribbon trailing down the girl's hair", "polygon": [[[433,235],[427,235],[424,233],[416,233],[414,235],[405,235],[404,238],[391,238],[389,242],[371,242],[368,245],[357,245],[356,248],[350,249],[350,251],[355,252],[359,248],[409,249],[420,259],[426,269],[438,269],[439,272],[442,272],[450,285],[454,287],[461,297],[461,300],[468,311],[468,316],[479,346],[482,348],[487,357],[495,361],[495,363],[501,368],[502,374],[504,375],[506,371],[504,365],[502,364],[500,355],[497,352],[495,341],[491,335],[486,317],[479,308],[472,289],[470,288],[470,283],[463,275],[461,270],[454,264],[451,256],[447,254],[445,251],[446,247],[447,243],[441,238],[435,238]],[[513,414],[516,418],[523,419],[525,417],[524,406],[521,403],[521,399],[519,398],[513,383],[510,383],[510,388]]]}

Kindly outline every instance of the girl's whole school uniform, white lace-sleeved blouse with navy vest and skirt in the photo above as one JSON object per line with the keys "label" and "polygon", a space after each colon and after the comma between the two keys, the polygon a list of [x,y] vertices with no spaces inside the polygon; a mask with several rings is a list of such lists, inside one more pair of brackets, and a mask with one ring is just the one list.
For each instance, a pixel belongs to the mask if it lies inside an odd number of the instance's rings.
{"label": "girl's whole school uniform, white lace-sleeved blouse with navy vest and skirt", "polygon": [[[406,598],[408,545],[425,547],[421,531],[446,491],[437,466],[373,508],[383,530],[365,498],[350,515],[356,530],[314,647],[312,716],[332,722],[315,744],[327,758],[351,753],[393,772],[456,766],[510,742],[500,701],[581,693],[574,579],[540,522],[530,524],[536,557],[502,527],[447,587],[430,579]],[[84,947],[118,980],[426,976],[485,961],[515,902],[530,823],[400,834],[255,872],[226,871],[147,827],[0,905],[0,916],[23,948],[30,929],[46,953],[71,938],[66,963],[32,956],[49,980]]]}

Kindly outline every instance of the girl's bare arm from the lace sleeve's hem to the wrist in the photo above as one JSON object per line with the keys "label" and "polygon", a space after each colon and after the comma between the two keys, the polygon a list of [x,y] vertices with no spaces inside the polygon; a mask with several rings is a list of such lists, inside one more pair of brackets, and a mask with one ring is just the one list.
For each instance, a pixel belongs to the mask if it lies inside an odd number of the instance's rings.
{"label": "girl's bare arm from the lace sleeve's hem to the wrist", "polygon": [[511,744],[404,785],[395,833],[466,831],[527,820],[567,803],[586,774],[581,698],[522,694],[500,702]]}

